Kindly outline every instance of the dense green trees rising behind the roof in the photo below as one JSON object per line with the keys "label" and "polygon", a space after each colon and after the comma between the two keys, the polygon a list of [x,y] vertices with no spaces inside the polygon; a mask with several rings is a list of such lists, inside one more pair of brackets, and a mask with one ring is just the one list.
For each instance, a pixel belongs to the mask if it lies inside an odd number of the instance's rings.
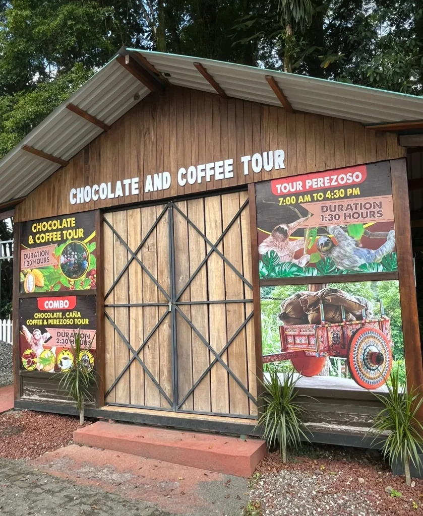
{"label": "dense green trees rising behind the roof", "polygon": [[419,0],[0,0],[0,158],[122,45],[421,94]]}

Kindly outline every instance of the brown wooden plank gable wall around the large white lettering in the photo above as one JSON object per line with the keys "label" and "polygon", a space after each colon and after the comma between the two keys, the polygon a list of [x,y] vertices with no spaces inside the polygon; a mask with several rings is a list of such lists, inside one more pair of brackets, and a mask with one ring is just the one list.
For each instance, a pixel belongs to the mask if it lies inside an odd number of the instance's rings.
{"label": "brown wooden plank gable wall around the large white lettering", "polygon": [[[283,149],[284,170],[244,175],[243,155]],[[15,209],[15,221],[81,212],[124,202],[156,200],[203,190],[257,182],[283,175],[334,169],[404,156],[393,133],[365,130],[356,122],[172,87],[150,94],[107,133],[80,151]],[[234,159],[234,177],[209,183],[177,183],[180,167]],[[71,188],[144,178],[169,171],[168,190],[74,204]]]}

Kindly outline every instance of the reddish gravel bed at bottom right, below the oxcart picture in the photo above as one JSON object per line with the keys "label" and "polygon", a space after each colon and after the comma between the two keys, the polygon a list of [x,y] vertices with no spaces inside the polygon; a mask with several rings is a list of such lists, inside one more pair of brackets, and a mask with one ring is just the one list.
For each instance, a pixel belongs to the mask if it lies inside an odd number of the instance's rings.
{"label": "reddish gravel bed at bottom right, below the oxcart picture", "polygon": [[[318,485],[328,495],[342,493],[345,498],[365,497],[370,502],[371,514],[371,507],[374,514],[423,514],[423,480],[413,479],[415,486],[406,486],[405,477],[392,475],[386,462],[374,450],[307,445],[294,451],[288,464],[282,463],[278,453],[269,454],[260,462],[257,472],[256,477],[264,483],[264,492],[271,489],[272,479],[283,477],[284,472],[298,473],[317,477]],[[385,491],[388,486],[402,496],[391,497]],[[294,493],[295,486],[290,490]],[[275,507],[277,505],[276,498]]]}

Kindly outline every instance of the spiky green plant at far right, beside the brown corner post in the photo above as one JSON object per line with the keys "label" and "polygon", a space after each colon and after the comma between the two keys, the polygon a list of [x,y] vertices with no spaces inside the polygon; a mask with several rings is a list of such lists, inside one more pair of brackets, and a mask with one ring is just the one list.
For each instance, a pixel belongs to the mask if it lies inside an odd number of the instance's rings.
{"label": "spiky green plant at far right, beside the brown corner post", "polygon": [[383,409],[375,417],[368,432],[373,443],[382,444],[382,454],[392,465],[400,461],[404,467],[405,482],[411,485],[410,461],[420,470],[419,449],[423,445],[423,426],[417,419],[417,412],[423,403],[419,389],[407,389],[399,382],[398,367],[386,382],[388,392],[374,395],[383,404]]}

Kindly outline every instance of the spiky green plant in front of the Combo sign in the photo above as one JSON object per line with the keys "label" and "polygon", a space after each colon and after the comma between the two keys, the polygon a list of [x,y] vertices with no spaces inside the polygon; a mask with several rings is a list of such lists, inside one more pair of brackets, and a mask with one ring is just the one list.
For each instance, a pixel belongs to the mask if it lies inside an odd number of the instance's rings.
{"label": "spiky green plant in front of the Combo sign", "polygon": [[59,388],[66,391],[68,397],[75,402],[76,409],[80,413],[80,425],[84,424],[84,405],[91,397],[90,389],[93,384],[97,383],[95,370],[90,370],[83,361],[84,353],[91,347],[92,341],[88,346],[81,344],[81,330],[73,332],[73,340],[71,343],[73,351],[73,363],[66,373],[62,373]]}

